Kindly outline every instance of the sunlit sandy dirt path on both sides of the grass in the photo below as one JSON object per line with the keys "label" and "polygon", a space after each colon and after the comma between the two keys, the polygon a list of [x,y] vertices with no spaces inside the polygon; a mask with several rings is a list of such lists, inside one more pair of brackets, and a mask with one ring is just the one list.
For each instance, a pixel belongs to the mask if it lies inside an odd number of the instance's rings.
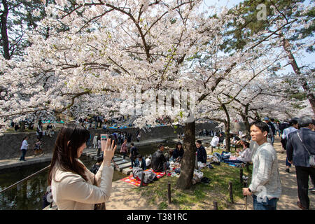
{"label": "sunlit sandy dirt path on both sides of the grass", "polygon": [[[277,204],[278,210],[300,210],[297,207],[296,202],[298,201],[297,197],[297,182],[296,182],[296,174],[295,167],[292,166],[290,168],[290,173],[285,171],[286,169],[286,152],[281,150],[281,142],[280,138],[276,137],[274,141],[274,148],[277,151],[278,162],[279,162],[279,174],[281,178],[281,186],[282,186],[282,195]],[[281,153],[283,152],[283,153]],[[309,187],[312,187],[311,181],[309,180]],[[108,210],[156,210],[157,206],[148,205],[146,202],[146,198],[141,197],[139,193],[135,193],[131,191],[132,186],[129,183],[125,183],[123,181],[115,181],[113,182],[113,193],[111,195],[111,199],[109,202],[106,202],[106,209]],[[315,195],[309,193],[309,201],[310,201],[310,209],[315,209]],[[243,210],[244,209],[244,201],[238,201],[235,203],[235,209]],[[251,197],[248,197],[248,210],[253,209],[253,200]]]}

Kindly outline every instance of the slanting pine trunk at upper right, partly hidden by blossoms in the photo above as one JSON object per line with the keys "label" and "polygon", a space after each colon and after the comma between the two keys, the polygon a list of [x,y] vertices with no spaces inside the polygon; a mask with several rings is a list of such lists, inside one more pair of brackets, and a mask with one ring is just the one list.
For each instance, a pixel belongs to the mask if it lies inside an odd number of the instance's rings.
{"label": "slanting pine trunk at upper right, partly hidden by blossoms", "polygon": [[[286,53],[288,54],[288,58],[290,60],[290,65],[293,68],[293,71],[297,74],[297,76],[300,76],[301,71],[300,71],[300,67],[297,66],[297,62],[292,54],[292,52],[290,51],[290,43],[286,38],[283,38],[283,44],[282,44],[284,50],[286,50]],[[309,90],[309,85],[307,85],[307,81],[304,80],[302,83],[302,87],[303,90],[305,92],[307,92],[307,99],[309,99],[309,104],[311,104],[311,109],[313,109],[313,113],[315,114],[315,97],[314,97],[314,93]]]}

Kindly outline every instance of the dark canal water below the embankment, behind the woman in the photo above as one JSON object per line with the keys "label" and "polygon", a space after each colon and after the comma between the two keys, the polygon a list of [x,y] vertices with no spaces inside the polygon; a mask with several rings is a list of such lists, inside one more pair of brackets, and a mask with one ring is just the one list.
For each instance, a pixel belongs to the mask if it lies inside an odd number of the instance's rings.
{"label": "dark canal water below the embankment, behind the woman", "polygon": [[[147,146],[137,146],[141,155],[153,154],[159,144],[151,144]],[[165,146],[171,148],[175,147],[174,143],[165,143]],[[87,169],[90,169],[94,165],[95,161],[87,156],[81,156],[80,160],[84,163]],[[0,190],[11,186],[25,177],[38,172],[50,165],[50,162],[42,162],[36,165],[29,165],[25,167],[17,167],[9,172],[2,172],[0,174]],[[115,171],[113,175],[113,181],[123,179],[126,175]],[[47,188],[48,169],[41,174],[34,176],[33,178],[18,184],[0,194],[0,210],[40,210],[43,204],[43,195]]]}

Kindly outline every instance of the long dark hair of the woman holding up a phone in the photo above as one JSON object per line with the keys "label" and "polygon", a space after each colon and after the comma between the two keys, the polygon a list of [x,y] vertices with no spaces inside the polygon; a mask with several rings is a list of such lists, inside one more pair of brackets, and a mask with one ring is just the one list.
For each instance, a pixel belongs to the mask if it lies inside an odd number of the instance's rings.
{"label": "long dark hair of the woman holding up a phone", "polygon": [[[52,169],[57,164],[66,172],[79,174],[87,181],[85,167],[78,162],[78,148],[90,138],[90,132],[81,125],[66,124],[59,131],[55,142],[54,154],[50,163],[48,185],[52,181]],[[68,144],[69,141],[69,144]]]}

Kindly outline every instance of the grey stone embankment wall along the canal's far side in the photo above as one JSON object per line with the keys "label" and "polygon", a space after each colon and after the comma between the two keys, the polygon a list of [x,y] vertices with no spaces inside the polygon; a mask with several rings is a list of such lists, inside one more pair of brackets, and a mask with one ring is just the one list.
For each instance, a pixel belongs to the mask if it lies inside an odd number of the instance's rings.
{"label": "grey stone embankment wall along the canal's far side", "polygon": [[[216,123],[204,123],[204,124],[196,124],[196,134],[200,132],[200,130],[216,130]],[[127,132],[132,134],[132,141],[136,140],[136,133],[138,128],[125,128],[125,129],[108,129],[108,130],[90,130],[90,134],[92,137],[96,133],[113,133],[113,132]],[[170,137],[177,137],[177,133],[183,133],[183,127],[174,129],[174,127],[170,126],[160,126],[160,127],[150,127],[141,129],[141,140],[148,139],[167,139]],[[15,133],[7,133],[0,136],[0,160],[10,159],[10,158],[19,158],[21,155],[20,148],[22,145],[22,139],[28,136],[28,144],[29,148],[27,150],[26,156],[34,155],[34,144],[36,143],[36,132],[15,132]],[[57,139],[57,132],[52,137],[43,136],[43,152],[44,153],[52,153],[55,141]],[[91,140],[92,142],[92,140]]]}

